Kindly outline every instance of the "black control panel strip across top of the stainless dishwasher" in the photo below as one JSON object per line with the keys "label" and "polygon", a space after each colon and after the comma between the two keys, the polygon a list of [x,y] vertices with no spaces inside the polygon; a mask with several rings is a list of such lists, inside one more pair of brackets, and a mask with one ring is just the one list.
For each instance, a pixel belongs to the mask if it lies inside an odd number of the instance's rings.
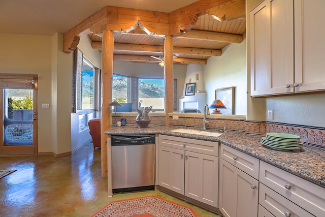
{"label": "black control panel strip across top of the stainless dishwasher", "polygon": [[155,144],[155,135],[112,135],[112,145]]}

